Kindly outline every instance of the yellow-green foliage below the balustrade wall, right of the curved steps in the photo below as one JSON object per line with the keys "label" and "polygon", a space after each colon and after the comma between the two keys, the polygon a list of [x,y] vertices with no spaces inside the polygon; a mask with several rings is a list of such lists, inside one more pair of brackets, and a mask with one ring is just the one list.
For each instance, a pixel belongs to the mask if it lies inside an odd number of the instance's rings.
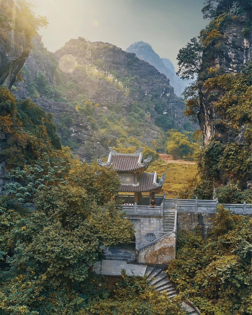
{"label": "yellow-green foliage below the balustrade wall, right of the curved steps", "polygon": [[180,233],[168,272],[203,315],[251,314],[251,224],[219,206],[206,238],[200,230]]}

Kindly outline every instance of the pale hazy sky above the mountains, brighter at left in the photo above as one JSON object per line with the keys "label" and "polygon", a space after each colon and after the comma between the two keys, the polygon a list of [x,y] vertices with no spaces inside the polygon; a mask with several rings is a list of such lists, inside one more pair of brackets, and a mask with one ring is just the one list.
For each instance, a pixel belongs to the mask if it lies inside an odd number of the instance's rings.
{"label": "pale hazy sky above the mountains, brighter at left", "polygon": [[49,25],[39,33],[50,51],[79,36],[112,43],[122,49],[137,41],[149,43],[177,69],[178,50],[199,34],[207,21],[204,0],[30,0],[36,15]]}

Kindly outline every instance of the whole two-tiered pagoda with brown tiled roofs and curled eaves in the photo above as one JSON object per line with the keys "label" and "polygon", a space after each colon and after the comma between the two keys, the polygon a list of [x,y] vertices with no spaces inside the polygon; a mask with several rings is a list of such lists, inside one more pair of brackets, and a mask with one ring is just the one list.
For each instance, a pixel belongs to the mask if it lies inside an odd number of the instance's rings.
{"label": "whole two-tiered pagoda with brown tiled roofs and curled eaves", "polygon": [[109,151],[108,161],[103,163],[101,159],[98,159],[97,163],[117,171],[121,180],[120,192],[134,193],[134,201],[139,204],[143,192],[149,192],[151,201],[155,194],[161,191],[166,175],[164,173],[161,178],[158,178],[157,172],[144,172],[152,157],[143,159],[143,148],[131,154],[118,153],[111,147]]}

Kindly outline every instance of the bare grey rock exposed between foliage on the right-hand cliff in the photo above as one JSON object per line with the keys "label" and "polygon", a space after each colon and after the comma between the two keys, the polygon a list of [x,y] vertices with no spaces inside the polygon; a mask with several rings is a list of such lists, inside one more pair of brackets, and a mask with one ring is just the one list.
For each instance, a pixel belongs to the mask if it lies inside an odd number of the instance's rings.
{"label": "bare grey rock exposed between foliage on the right-hand cliff", "polygon": [[[221,45],[214,50],[213,58],[211,60],[211,67],[218,69],[218,74],[230,73],[235,74],[243,70],[251,61],[251,31],[244,35],[244,28],[251,27],[251,12],[250,9],[244,16],[238,20],[232,19],[222,30],[224,39]],[[203,52],[203,64],[208,57],[209,49]],[[208,61],[209,62],[209,61]],[[204,69],[203,69],[204,70]],[[200,111],[198,114],[199,125],[203,133],[203,144],[208,144],[213,136],[221,140],[222,143],[240,141],[242,134],[244,134],[244,127],[241,126],[240,136],[233,132],[233,130],[223,129],[223,126],[217,123],[219,117],[215,108],[215,99],[211,95],[220,95],[218,89],[206,90],[203,86],[204,82],[212,77],[211,74],[204,80],[198,82],[201,96]]]}

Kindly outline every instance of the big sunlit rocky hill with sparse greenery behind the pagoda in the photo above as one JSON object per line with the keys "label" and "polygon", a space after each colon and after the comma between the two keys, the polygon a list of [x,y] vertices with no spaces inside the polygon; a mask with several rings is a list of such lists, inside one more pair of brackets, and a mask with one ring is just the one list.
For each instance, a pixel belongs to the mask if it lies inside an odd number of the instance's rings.
{"label": "big sunlit rocky hill with sparse greenery behind the pagoda", "polygon": [[188,122],[169,79],[109,43],[79,37],[53,54],[36,36],[22,70],[17,97],[30,96],[53,113],[63,144],[86,161],[105,155],[118,139],[125,146],[132,145],[128,138],[149,146],[165,141],[161,120],[178,129]]}

